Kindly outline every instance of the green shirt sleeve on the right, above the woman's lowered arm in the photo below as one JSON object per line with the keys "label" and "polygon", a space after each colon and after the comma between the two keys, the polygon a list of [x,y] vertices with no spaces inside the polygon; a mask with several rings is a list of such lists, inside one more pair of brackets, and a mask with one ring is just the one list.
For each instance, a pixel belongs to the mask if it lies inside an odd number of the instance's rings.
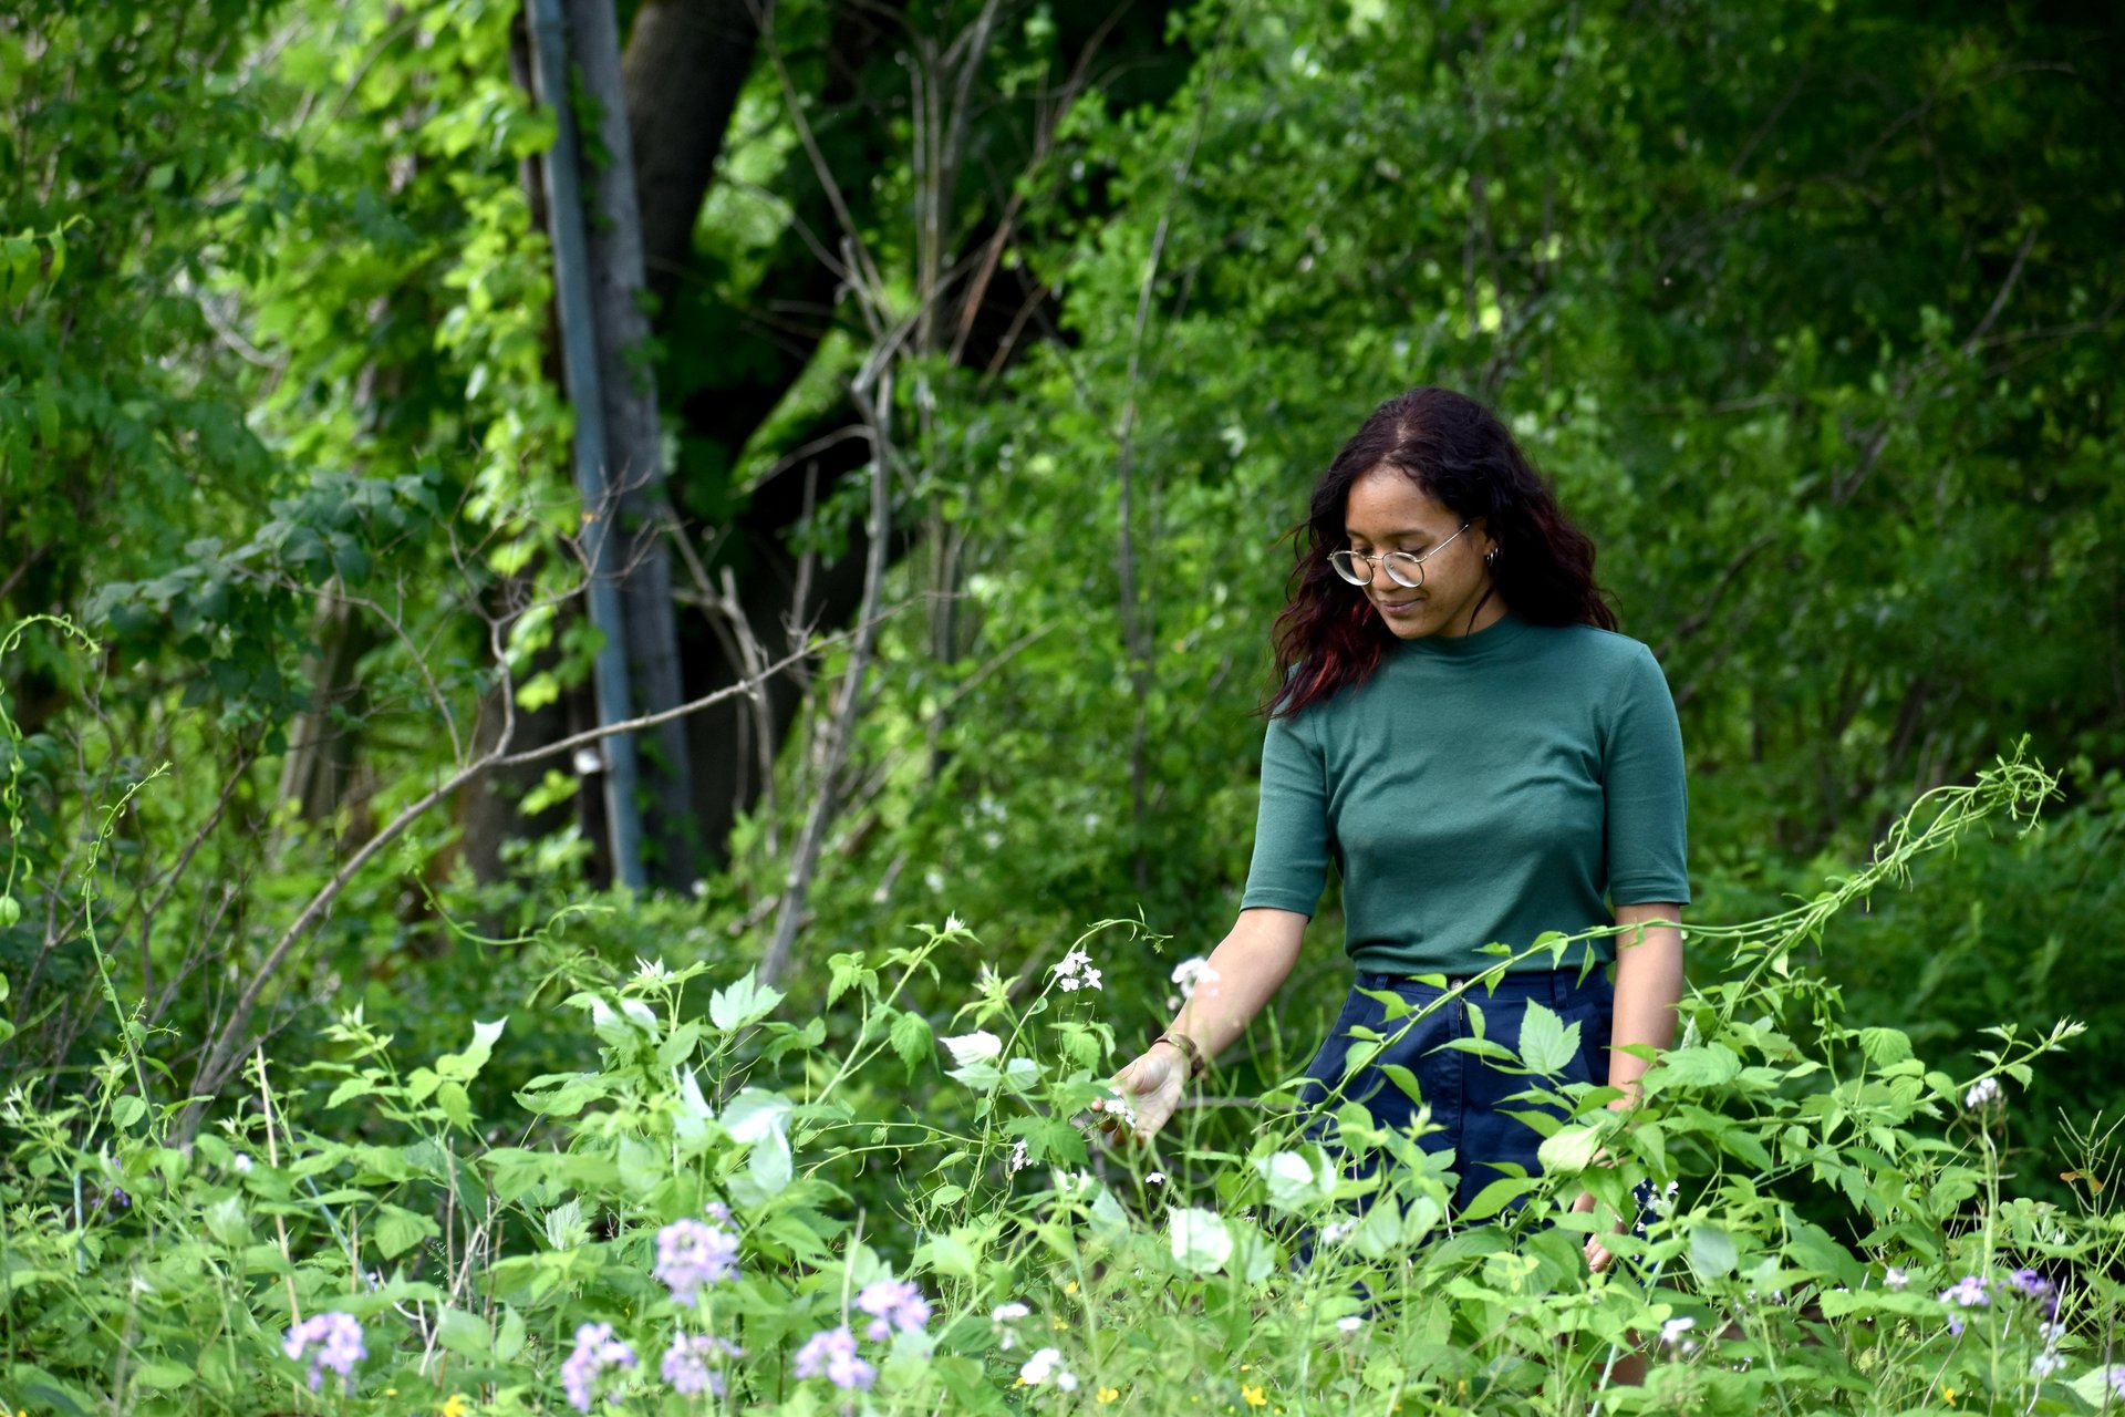
{"label": "green shirt sleeve on the right, above the woman's lowered arm", "polygon": [[1636,646],[1613,699],[1602,754],[1611,905],[1689,903],[1689,786],[1674,695]]}

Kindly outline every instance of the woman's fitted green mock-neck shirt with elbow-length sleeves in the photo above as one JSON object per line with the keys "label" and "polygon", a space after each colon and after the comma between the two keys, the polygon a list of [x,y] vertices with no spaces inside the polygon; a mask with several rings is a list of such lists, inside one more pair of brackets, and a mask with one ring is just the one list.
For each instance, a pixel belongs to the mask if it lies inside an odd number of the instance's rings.
{"label": "woman's fitted green mock-neck shirt with elbow-length sleeves", "polygon": [[[1464,975],[1611,905],[1689,901],[1674,699],[1636,639],[1502,620],[1396,642],[1262,741],[1241,909],[1311,916],[1334,863],[1360,969]],[[1615,958],[1611,941],[1596,954]],[[1524,969],[1549,969],[1549,956]]]}

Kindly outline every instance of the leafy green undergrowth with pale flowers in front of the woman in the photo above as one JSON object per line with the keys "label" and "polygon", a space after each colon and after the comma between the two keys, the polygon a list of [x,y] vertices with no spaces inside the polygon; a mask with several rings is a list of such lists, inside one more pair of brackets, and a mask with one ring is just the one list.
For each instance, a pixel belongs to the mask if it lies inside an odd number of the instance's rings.
{"label": "leafy green undergrowth with pale flowers in front of the woman", "polygon": [[[60,1413],[1532,1413],[1596,1392],[1609,1411],[2097,1411],[2121,1381],[2125,1230],[2102,1190],[2082,1209],[2008,1194],[1998,1151],[2032,1060],[2074,1030],[2004,1030],[1957,1077],[1900,1030],[1849,1026],[1796,962],[1842,905],[2048,782],[2002,765],[1785,916],[1694,928],[1726,969],[1685,1001],[1628,1124],[1609,1090],[1551,1090],[1530,1041],[1509,1062],[1568,1117],[1530,1111],[1549,1175],[1490,1188],[1488,1217],[1445,1213],[1451,1158],[1341,1107],[1343,1145],[1400,1162],[1362,1179],[1277,1092],[1203,1098],[1226,1107],[1184,1111],[1150,1149],[1088,1147],[1084,1120],[1111,1105],[1096,952],[1114,922],[967,988],[939,960],[980,941],[948,920],[837,956],[824,1011],[752,975],[706,988],[701,964],[584,960],[567,1028],[459,1020],[470,1041],[421,1062],[348,1009],[300,1075],[261,1049],[189,1149],[178,1107],[142,1090],[157,1060],[121,1049],[85,1096],[4,1103],[4,1396]],[[963,1003],[933,1020],[910,1007],[918,981]],[[476,1109],[497,1041],[531,1028],[582,1035],[595,1062]],[[1252,1130],[1205,1126],[1235,1111]],[[2085,1164],[2114,1175],[2100,1143]],[[1587,1275],[1583,1232],[1609,1222],[1564,1202],[1621,1207],[1640,1183],[1643,1234],[1613,1234],[1621,1266]],[[1806,1219],[1794,1185],[1836,1198],[1857,1243]],[[1645,1385],[1602,1387],[1640,1349]]]}

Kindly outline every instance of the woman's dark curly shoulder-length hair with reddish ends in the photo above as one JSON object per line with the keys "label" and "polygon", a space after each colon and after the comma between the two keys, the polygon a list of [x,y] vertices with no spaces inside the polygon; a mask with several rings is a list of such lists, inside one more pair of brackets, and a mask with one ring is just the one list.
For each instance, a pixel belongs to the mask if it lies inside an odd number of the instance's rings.
{"label": "woman's dark curly shoulder-length hair with reddish ends", "polygon": [[1492,584],[1513,614],[1615,629],[1615,612],[1594,584],[1594,542],[1564,516],[1498,414],[1449,389],[1411,389],[1373,410],[1343,444],[1313,484],[1307,520],[1292,527],[1298,565],[1277,614],[1271,718],[1364,684],[1394,644],[1371,601],[1328,565],[1328,552],[1347,542],[1349,486],[1375,467],[1400,470],[1460,520],[1483,523],[1498,544]]}

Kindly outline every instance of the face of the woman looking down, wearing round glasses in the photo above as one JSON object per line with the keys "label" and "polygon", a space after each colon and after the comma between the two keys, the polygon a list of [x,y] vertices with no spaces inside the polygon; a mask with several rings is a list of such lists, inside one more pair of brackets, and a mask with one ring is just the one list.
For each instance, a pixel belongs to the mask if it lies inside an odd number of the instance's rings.
{"label": "face of the woman looking down, wearing round glasses", "polygon": [[[1386,565],[1373,565],[1373,584],[1352,586],[1352,595],[1373,601],[1373,610],[1398,639],[1466,635],[1488,629],[1504,614],[1504,601],[1490,591],[1483,552],[1496,542],[1483,523],[1460,531],[1460,518],[1443,501],[1417,486],[1398,467],[1379,465],[1360,476],[1343,499],[1343,533],[1358,554],[1381,557],[1407,550],[1424,561],[1424,584],[1402,586]],[[1460,535],[1454,535],[1460,531]],[[1447,537],[1454,537],[1451,542]],[[1468,612],[1481,610],[1470,622]]]}

